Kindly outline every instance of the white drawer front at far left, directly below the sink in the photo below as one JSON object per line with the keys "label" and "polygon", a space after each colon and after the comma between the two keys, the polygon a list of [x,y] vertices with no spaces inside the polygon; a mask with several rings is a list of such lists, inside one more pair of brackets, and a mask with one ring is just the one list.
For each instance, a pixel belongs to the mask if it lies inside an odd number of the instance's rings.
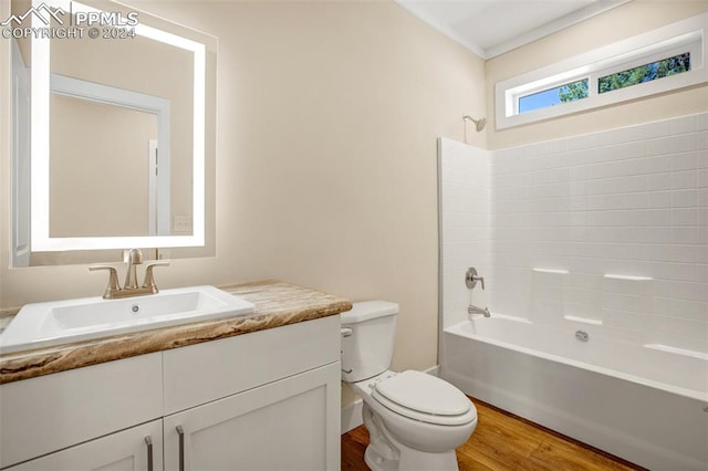
{"label": "white drawer front at far left, directly below the sink", "polygon": [[0,386],[0,468],[163,416],[162,353]]}

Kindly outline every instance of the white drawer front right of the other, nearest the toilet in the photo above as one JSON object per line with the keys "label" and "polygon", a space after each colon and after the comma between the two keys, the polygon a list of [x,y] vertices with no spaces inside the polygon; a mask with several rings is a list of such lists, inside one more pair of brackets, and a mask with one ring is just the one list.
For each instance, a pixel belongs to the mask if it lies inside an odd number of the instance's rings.
{"label": "white drawer front right of the other, nearest the toilet", "polygon": [[340,360],[340,316],[164,352],[165,414]]}

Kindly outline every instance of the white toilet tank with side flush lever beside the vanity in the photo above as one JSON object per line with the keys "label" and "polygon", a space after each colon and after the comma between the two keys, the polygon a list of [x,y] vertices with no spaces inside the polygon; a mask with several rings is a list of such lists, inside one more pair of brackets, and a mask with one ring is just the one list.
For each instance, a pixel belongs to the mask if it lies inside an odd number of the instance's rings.
{"label": "white toilet tank with side flush lever beside the vanity", "polygon": [[386,301],[352,303],[341,314],[344,381],[361,381],[391,367],[397,315],[398,304]]}

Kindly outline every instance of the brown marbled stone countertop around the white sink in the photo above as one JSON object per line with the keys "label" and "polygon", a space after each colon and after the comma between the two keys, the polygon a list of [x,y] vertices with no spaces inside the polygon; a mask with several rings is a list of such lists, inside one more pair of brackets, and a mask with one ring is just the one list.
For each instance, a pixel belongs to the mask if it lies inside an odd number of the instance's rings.
{"label": "brown marbled stone countertop around the white sink", "polygon": [[[0,355],[0,384],[312,321],[352,308],[343,297],[273,280],[219,287],[250,301],[256,312]],[[9,310],[2,313],[3,326],[11,316]]]}

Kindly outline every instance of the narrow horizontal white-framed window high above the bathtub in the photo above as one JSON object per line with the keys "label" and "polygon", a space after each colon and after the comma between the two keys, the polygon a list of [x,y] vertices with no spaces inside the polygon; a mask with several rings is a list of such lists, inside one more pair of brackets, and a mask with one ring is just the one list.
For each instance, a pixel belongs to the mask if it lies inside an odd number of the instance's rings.
{"label": "narrow horizontal white-framed window high above the bathtub", "polygon": [[496,84],[497,128],[708,81],[708,13]]}

